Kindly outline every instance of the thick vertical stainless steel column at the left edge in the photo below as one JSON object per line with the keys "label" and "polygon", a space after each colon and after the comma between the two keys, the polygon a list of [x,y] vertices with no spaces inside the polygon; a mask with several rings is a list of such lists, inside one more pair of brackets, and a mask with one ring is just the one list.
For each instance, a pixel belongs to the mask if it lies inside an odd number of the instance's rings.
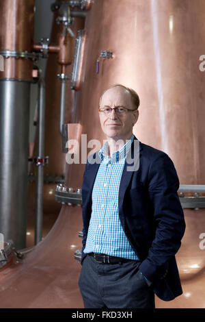
{"label": "thick vertical stainless steel column at the left edge", "polygon": [[0,79],[0,232],[25,248],[30,82]]}

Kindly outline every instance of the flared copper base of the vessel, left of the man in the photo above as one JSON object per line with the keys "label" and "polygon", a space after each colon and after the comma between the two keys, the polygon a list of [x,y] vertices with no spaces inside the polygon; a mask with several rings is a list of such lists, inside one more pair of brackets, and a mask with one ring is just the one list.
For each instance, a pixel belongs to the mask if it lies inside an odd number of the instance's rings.
{"label": "flared copper base of the vessel, left of the man", "polygon": [[1,271],[1,308],[83,308],[77,284],[81,264],[74,260],[81,241],[76,221],[80,211],[62,207],[55,229],[23,263]]}

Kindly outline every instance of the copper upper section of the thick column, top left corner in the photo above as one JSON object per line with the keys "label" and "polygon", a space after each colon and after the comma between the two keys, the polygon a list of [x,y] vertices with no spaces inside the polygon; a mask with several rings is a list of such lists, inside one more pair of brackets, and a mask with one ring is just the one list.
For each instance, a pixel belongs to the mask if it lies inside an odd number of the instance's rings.
{"label": "copper upper section of the thick column, top left corner", "polygon": [[[31,52],[34,0],[0,0],[0,51]],[[1,78],[32,80],[32,60],[5,59]]]}

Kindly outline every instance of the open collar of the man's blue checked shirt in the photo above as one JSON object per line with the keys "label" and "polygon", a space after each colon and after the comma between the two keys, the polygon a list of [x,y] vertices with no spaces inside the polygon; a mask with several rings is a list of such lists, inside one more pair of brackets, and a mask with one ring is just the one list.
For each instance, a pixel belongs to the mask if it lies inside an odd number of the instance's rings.
{"label": "open collar of the man's blue checked shirt", "polygon": [[[123,158],[126,158],[126,155],[131,148],[131,144],[134,140],[134,134],[131,136],[129,140],[123,145],[118,151],[113,152],[111,163],[118,162],[119,160],[122,160]],[[98,151],[98,155],[100,156],[101,162],[104,160],[105,157],[109,157],[109,144],[108,141],[105,142],[105,144],[101,147],[101,149]]]}

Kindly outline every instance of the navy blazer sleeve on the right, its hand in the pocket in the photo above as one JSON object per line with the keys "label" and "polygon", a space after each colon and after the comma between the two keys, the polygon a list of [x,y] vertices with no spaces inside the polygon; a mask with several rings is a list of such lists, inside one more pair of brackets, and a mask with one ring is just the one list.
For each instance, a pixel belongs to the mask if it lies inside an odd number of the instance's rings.
{"label": "navy blazer sleeve on the right, its hand in the pocket", "polygon": [[148,174],[148,196],[154,209],[156,232],[147,258],[139,266],[139,271],[151,282],[165,274],[184,235],[184,212],[178,188],[178,175],[172,160],[166,153],[160,153],[150,165]]}

